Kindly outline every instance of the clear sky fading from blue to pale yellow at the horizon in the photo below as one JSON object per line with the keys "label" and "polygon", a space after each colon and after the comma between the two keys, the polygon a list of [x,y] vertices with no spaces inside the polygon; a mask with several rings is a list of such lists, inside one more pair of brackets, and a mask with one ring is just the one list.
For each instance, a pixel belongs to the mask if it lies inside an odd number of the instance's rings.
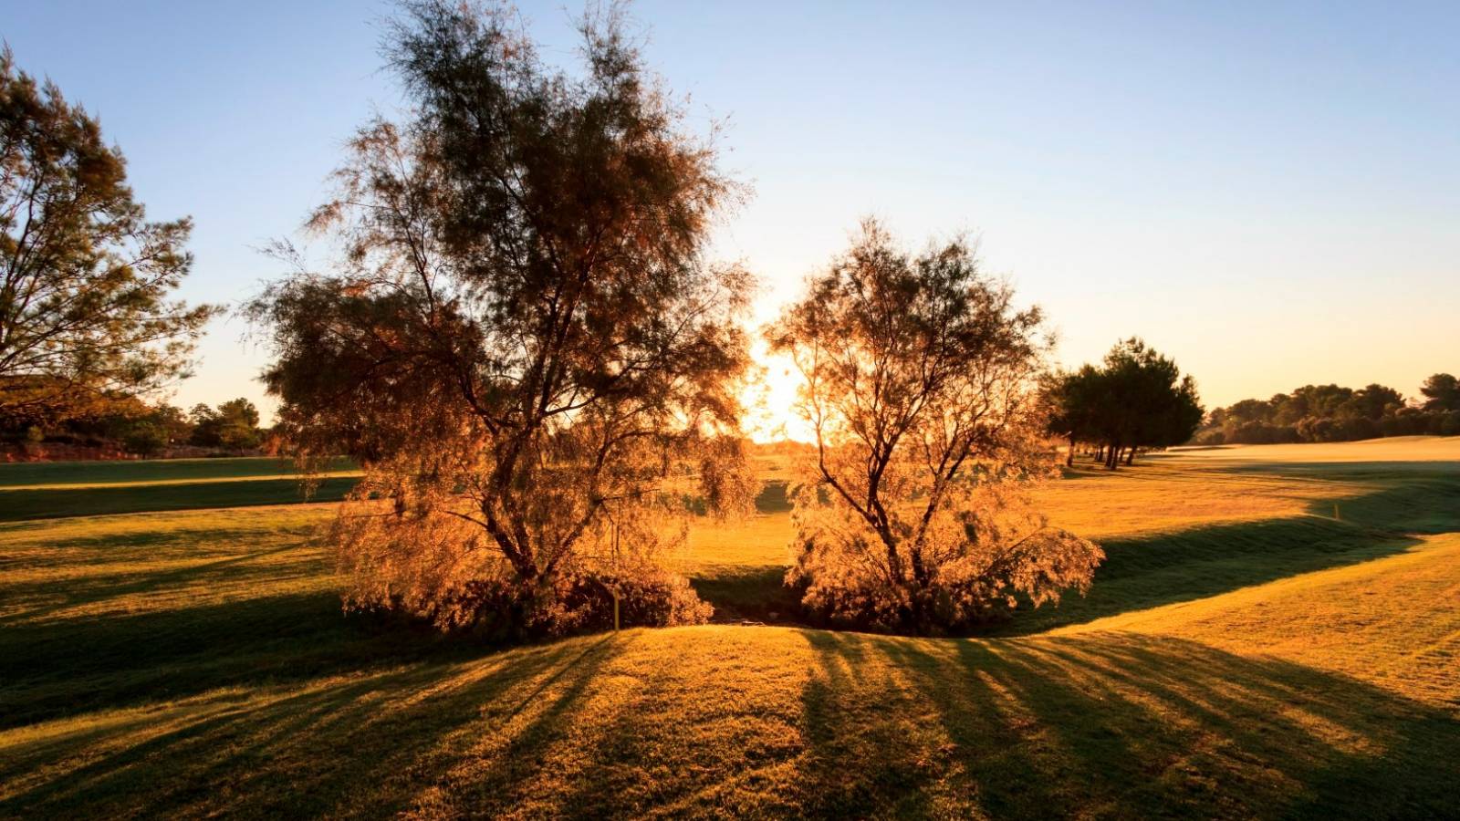
{"label": "clear sky fading from blue to pale yellow at the horizon", "polygon": [[[520,3],[575,66],[569,3]],[[380,1],[0,0],[19,66],[99,115],[149,215],[191,215],[182,297],[283,273],[342,143],[404,104]],[[1044,307],[1057,359],[1142,336],[1207,406],[1310,383],[1407,396],[1460,370],[1460,4],[641,0],[647,63],[723,120],[753,188],[715,256],[796,297],[857,222],[968,232]],[[209,327],[172,402],[247,396],[267,351]],[[774,370],[774,368],[772,368]],[[772,374],[774,375],[774,374]],[[772,405],[784,405],[784,392]]]}

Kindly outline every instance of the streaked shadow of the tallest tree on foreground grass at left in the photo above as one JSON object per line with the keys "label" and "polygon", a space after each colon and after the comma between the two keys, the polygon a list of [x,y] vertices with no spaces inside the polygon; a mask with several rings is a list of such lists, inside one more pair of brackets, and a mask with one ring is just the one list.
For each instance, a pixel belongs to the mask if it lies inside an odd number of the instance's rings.
{"label": "streaked shadow of the tallest tree on foreground grass at left", "polygon": [[[463,764],[473,779],[511,786],[561,738],[616,653],[603,635],[127,713],[12,748],[0,815],[383,817],[419,803],[423,787]],[[96,736],[108,744],[85,749]],[[36,760],[61,764],[28,773]]]}

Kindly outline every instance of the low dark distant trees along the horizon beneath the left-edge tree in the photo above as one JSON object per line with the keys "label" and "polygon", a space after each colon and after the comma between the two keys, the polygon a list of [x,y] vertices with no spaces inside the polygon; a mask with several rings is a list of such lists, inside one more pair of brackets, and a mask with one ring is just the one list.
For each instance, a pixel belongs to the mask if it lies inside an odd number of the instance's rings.
{"label": "low dark distant trees along the horizon beneath the left-edge tree", "polygon": [[93,403],[88,412],[63,418],[10,418],[0,425],[0,440],[82,447],[115,447],[124,453],[155,457],[169,450],[194,447],[216,453],[245,453],[264,444],[258,409],[247,399],[232,399],[218,408],[199,403],[182,410],[165,402],[149,405],[136,397],[112,397]]}

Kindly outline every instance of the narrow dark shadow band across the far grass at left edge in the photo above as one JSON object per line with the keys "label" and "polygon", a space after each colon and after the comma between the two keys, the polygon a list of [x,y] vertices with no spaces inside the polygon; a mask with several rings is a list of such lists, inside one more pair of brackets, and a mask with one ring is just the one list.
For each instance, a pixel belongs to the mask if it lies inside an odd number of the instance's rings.
{"label": "narrow dark shadow band across the far grass at left edge", "polygon": [[356,482],[358,479],[353,476],[330,476],[321,479],[308,497],[298,479],[241,479],[237,482],[120,488],[0,489],[0,522],[339,501]]}

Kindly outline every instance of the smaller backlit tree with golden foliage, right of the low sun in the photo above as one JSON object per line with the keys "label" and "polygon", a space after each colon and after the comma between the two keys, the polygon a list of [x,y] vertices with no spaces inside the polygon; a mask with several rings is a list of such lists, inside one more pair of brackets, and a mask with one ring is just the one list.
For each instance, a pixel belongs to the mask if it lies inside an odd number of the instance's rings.
{"label": "smaller backlit tree with golden foliage, right of the low sun", "polygon": [[1048,343],[1040,311],[1012,302],[967,243],[914,257],[869,221],[768,330],[816,435],[787,576],[812,612],[937,633],[1089,587],[1101,549],[1022,494],[1054,467],[1037,403]]}

